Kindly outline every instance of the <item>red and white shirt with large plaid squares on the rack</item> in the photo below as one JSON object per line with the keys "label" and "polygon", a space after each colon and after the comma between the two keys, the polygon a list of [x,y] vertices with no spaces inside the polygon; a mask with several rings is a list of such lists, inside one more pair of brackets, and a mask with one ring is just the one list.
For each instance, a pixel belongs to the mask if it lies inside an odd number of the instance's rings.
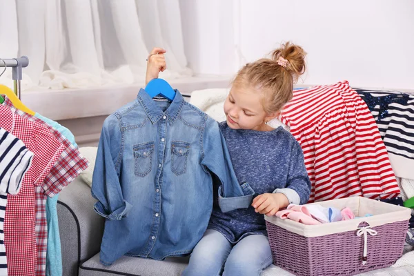
{"label": "red and white shirt with large plaid squares on the rack", "polygon": [[[6,106],[13,108],[12,102],[5,101]],[[48,222],[46,220],[46,199],[57,195],[63,188],[68,186],[83,170],[88,168],[88,160],[83,158],[78,148],[73,146],[66,137],[61,135],[58,130],[46,124],[41,119],[34,117],[26,112],[17,110],[17,114],[42,124],[55,135],[55,137],[65,146],[60,158],[55,166],[45,177],[41,186],[35,187],[36,196],[36,240],[37,240],[37,268],[36,276],[46,275],[46,252],[48,248]]]}

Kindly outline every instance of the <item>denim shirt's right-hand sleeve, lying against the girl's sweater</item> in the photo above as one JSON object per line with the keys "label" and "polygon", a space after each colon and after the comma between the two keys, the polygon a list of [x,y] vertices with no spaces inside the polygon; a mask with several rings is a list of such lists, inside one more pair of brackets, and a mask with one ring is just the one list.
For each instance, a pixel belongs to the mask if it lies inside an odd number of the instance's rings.
{"label": "denim shirt's right-hand sleeve, lying against the girl's sweater", "polygon": [[206,166],[219,179],[219,206],[222,212],[229,212],[239,208],[248,208],[255,191],[249,184],[239,184],[230,153],[226,146],[219,125],[208,117],[203,137],[204,157],[201,164]]}

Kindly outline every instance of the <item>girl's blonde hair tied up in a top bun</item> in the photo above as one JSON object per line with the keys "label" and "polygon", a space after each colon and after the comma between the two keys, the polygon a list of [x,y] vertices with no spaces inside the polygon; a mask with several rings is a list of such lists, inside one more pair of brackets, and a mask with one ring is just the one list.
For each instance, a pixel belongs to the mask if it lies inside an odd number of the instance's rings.
{"label": "girl's blonde hair tied up in a top bun", "polygon": [[237,72],[233,85],[248,85],[263,92],[266,113],[278,112],[293,97],[293,84],[306,70],[305,56],[302,47],[290,42],[282,44],[270,59],[247,63]]}

